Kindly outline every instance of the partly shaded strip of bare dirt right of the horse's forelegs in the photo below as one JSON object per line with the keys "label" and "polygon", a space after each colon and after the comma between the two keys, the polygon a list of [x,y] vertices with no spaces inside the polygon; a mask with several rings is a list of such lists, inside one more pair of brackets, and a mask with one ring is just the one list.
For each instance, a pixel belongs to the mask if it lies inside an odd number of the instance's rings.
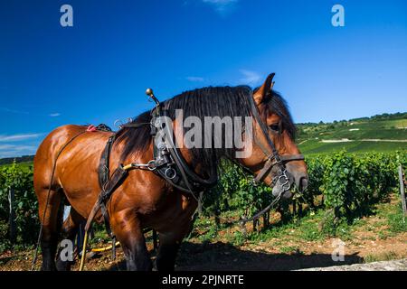
{"label": "partly shaded strip of bare dirt right of the horse's forelegs", "polygon": [[[232,247],[229,244],[185,243],[184,254],[178,257],[177,270],[298,270],[301,268],[338,266],[377,259],[398,259],[407,256],[407,233],[385,240],[356,239],[345,242],[345,260],[332,260],[332,243],[304,242],[299,252],[281,253],[265,244]],[[289,245],[289,244],[288,244]],[[296,244],[298,247],[298,244]],[[194,258],[187,257],[194,256]]]}

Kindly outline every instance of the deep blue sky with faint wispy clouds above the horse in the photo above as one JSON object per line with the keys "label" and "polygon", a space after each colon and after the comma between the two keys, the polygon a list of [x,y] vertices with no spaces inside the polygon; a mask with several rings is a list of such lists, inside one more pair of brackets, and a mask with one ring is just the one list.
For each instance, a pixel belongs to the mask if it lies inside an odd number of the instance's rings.
{"label": "deep blue sky with faint wispy clouds above the horse", "polygon": [[270,72],[296,122],[407,111],[406,36],[402,0],[4,0],[0,157],[34,154],[57,126],[137,116],[147,87],[165,99]]}

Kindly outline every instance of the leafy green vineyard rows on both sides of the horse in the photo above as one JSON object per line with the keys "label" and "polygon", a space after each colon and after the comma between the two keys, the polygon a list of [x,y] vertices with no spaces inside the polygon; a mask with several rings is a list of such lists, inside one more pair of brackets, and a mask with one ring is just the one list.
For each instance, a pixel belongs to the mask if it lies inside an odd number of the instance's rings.
{"label": "leafy green vineyard rows on both sides of the horse", "polygon": [[[398,191],[399,164],[407,167],[406,152],[355,155],[341,151],[308,157],[306,161],[308,191],[295,195],[293,200],[281,200],[278,208],[251,224],[236,225],[227,236],[230,244],[239,246],[247,240],[278,236],[276,231],[271,236],[270,228],[292,228],[292,224],[313,216],[318,217],[317,224],[305,238],[341,237],[344,226],[374,214],[377,204],[388,203],[392,196],[400,200],[394,192]],[[203,210],[195,220],[191,239],[211,241],[222,230],[231,228],[229,220],[251,217],[273,199],[269,187],[254,185],[252,177],[237,165],[223,162],[221,170],[218,185],[204,193]],[[392,212],[391,226],[397,232],[406,232],[399,203],[397,208]],[[33,167],[17,163],[0,167],[0,253],[33,248],[38,229]],[[103,239],[102,228],[97,235],[99,241]]]}

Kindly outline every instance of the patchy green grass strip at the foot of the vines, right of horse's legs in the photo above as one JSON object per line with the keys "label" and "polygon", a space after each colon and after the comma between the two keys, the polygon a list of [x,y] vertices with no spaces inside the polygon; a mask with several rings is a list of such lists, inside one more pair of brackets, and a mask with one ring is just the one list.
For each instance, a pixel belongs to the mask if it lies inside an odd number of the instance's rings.
{"label": "patchy green grass strip at the foot of the vines, right of horse's legs", "polygon": [[[192,239],[195,238],[199,242],[227,242],[235,247],[260,244],[273,247],[281,253],[292,254],[298,253],[300,244],[322,243],[329,238],[340,238],[356,244],[356,232],[369,232],[369,234],[364,234],[365,240],[391,238],[407,232],[407,223],[402,219],[401,202],[394,201],[394,198],[399,197],[394,194],[393,201],[375,205],[370,214],[374,219],[368,221],[366,218],[358,218],[350,222],[347,219],[341,219],[335,227],[327,224],[329,218],[327,218],[326,210],[323,209],[317,210],[313,214],[308,212],[306,216],[291,219],[288,222],[274,222],[269,228],[261,228],[260,231],[252,232],[251,229],[247,229],[246,235],[241,233],[238,226],[230,228],[221,226],[216,229],[212,219],[197,219]],[[227,214],[235,217],[237,212],[229,211]],[[373,256],[371,258],[373,259]],[[383,259],[384,256],[380,256],[380,258]]]}

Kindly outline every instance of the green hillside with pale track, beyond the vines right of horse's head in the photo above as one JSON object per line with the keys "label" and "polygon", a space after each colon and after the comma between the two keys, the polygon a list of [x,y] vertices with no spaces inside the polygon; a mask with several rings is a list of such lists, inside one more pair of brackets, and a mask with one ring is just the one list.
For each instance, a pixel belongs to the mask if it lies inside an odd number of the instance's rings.
{"label": "green hillside with pale track, beyond the vines right of horse's head", "polygon": [[298,124],[303,154],[392,152],[407,149],[407,113],[383,114],[333,123]]}

